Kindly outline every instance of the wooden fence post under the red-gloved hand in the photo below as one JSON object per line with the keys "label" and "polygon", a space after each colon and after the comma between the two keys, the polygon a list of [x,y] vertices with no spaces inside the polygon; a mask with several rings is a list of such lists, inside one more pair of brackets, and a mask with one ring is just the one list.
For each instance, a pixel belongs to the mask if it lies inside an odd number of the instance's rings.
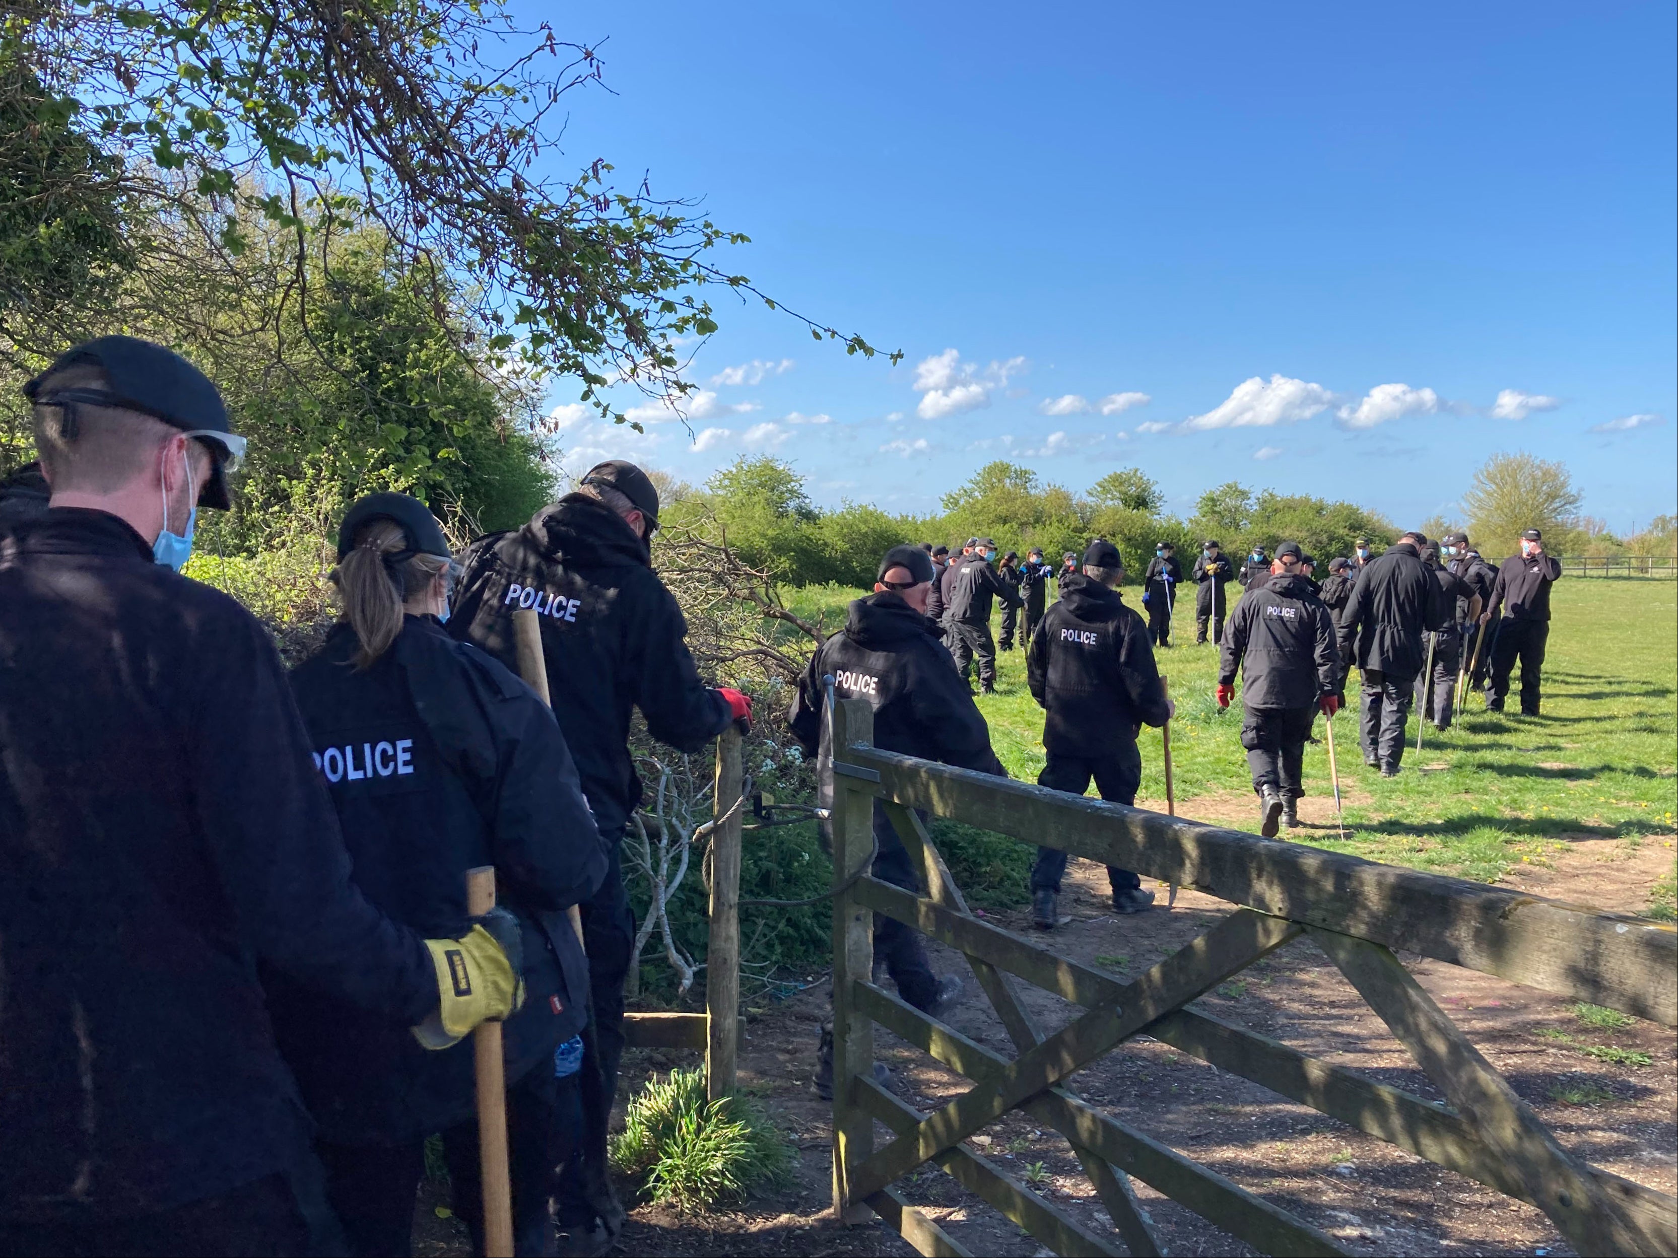
{"label": "wooden fence post under the red-gloved hand", "polygon": [[705,956],[705,1095],[733,1094],[740,1035],[740,731],[717,738],[717,790],[711,814],[711,939]]}

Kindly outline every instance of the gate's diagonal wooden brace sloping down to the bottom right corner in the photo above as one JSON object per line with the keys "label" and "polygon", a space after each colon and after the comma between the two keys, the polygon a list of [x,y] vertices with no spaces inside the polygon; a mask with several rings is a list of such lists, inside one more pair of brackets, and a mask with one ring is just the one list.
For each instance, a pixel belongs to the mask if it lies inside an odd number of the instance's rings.
{"label": "gate's diagonal wooden brace sloping down to the bottom right corner", "polygon": [[1579,1253],[1646,1253],[1641,1229],[1621,1218],[1594,1177],[1557,1144],[1389,948],[1319,928],[1311,929],[1311,938],[1492,1152],[1522,1177],[1530,1199]]}

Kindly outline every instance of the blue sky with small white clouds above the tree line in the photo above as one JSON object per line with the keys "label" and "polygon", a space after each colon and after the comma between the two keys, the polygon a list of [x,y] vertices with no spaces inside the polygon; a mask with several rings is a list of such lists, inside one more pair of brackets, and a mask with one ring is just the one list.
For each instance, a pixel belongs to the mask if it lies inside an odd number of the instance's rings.
{"label": "blue sky with small white clouds above the tree line", "polygon": [[562,386],[567,463],[770,451],[913,512],[998,456],[1134,465],[1180,513],[1240,480],[1418,522],[1525,450],[1616,530],[1675,510],[1670,2],[522,12],[609,37],[557,169],[703,198],[753,242],[723,265],[906,356],[718,294],[688,428]]}

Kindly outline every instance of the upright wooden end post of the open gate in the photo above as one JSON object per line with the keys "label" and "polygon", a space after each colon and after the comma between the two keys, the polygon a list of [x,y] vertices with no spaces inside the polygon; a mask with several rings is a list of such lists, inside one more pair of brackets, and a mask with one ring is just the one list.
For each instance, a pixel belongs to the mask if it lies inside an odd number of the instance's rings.
{"label": "upright wooden end post of the open gate", "polygon": [[[861,699],[846,699],[832,711],[832,758],[847,760],[852,745],[873,745],[874,710]],[[874,797],[851,790],[856,780],[834,773],[832,844],[834,886],[869,860],[874,850]],[[874,1021],[859,1013],[851,996],[852,983],[874,975],[874,914],[857,902],[856,889],[834,896],[834,1216],[841,1223],[869,1218],[868,1206],[851,1193],[851,1171],[874,1152],[874,1119],[857,1109],[852,1080],[874,1068]]]}

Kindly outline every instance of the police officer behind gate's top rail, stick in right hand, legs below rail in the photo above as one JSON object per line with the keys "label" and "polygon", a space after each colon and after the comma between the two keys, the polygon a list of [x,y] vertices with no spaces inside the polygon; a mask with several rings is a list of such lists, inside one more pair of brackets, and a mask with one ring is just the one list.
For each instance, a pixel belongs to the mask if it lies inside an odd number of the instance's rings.
{"label": "police officer behind gate's top rail, stick in right hand, legs below rail", "polygon": [[[1094,778],[1101,798],[1134,803],[1143,780],[1136,733],[1143,725],[1165,725],[1176,708],[1159,683],[1143,617],[1119,597],[1123,579],[1118,547],[1091,542],[1084,572],[1060,577],[1060,600],[1025,652],[1025,678],[1047,713],[1047,763],[1037,785],[1082,795]],[[1059,924],[1055,897],[1064,874],[1066,852],[1039,847],[1032,919],[1042,931]],[[1107,882],[1118,912],[1153,904],[1153,892],[1128,869],[1109,866]]]}

